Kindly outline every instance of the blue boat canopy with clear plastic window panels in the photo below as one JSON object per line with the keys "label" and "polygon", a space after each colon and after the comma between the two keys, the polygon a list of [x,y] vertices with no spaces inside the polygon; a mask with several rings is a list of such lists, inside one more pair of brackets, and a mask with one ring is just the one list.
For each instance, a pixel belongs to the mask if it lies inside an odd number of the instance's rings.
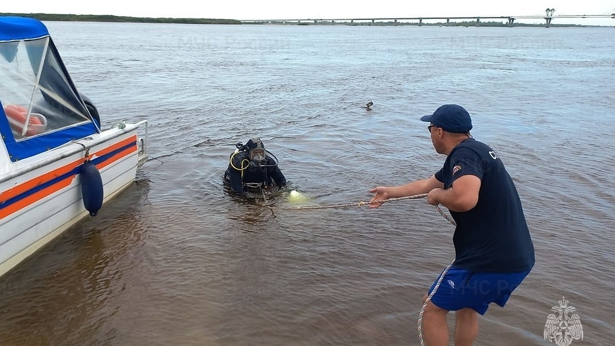
{"label": "blue boat canopy with clear plastic window panels", "polygon": [[0,133],[11,161],[100,132],[39,20],[0,17]]}

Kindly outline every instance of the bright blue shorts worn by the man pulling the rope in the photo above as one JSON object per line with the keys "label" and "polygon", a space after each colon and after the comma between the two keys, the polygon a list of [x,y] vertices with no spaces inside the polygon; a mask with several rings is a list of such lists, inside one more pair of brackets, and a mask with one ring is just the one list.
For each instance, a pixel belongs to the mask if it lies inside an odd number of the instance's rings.
{"label": "bright blue shorts worn by the man pulling the rope", "polygon": [[[447,311],[472,308],[485,315],[490,303],[504,307],[512,291],[530,273],[475,273],[451,267],[431,298],[431,302]],[[428,295],[442,274],[434,281]]]}

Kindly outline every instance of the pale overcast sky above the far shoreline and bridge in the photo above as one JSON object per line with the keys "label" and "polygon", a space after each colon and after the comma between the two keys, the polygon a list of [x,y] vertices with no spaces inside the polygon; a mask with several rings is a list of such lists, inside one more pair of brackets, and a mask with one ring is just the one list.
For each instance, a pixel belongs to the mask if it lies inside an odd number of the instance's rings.
{"label": "pale overcast sky above the far shoreline and bridge", "polygon": [[[137,4],[140,2],[141,4]],[[111,14],[130,17],[303,19],[303,18],[397,18],[544,15],[593,15],[615,12],[614,0],[216,0],[216,1],[130,1],[130,0],[22,0],[2,1],[1,12],[48,14]],[[525,23],[537,20],[519,20]],[[615,19],[554,19],[552,23],[615,26]]]}

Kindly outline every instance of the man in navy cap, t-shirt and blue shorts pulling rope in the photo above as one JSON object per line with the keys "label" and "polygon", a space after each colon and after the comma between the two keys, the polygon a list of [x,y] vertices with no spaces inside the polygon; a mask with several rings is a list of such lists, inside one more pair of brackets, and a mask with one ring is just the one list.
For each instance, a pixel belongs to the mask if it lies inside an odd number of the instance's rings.
{"label": "man in navy cap, t-shirt and blue shorts pulling rope", "polygon": [[421,345],[448,345],[446,315],[455,311],[455,345],[469,346],[478,336],[478,313],[491,303],[504,307],[530,273],[534,245],[517,188],[496,152],[470,135],[469,113],[443,105],[421,120],[431,123],[432,144],[446,155],[442,169],[429,179],[373,188],[372,201],[428,193],[429,204],[451,212],[455,259],[424,296],[419,338]]}

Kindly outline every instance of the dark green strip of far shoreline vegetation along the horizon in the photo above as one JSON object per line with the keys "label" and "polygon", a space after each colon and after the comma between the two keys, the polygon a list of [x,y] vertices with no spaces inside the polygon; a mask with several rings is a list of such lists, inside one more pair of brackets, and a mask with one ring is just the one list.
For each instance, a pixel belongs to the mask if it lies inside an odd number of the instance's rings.
{"label": "dark green strip of far shoreline vegetation along the horizon", "polygon": [[[57,21],[57,22],[113,22],[113,23],[175,23],[175,24],[227,24],[227,25],[349,25],[349,26],[508,26],[508,23],[503,22],[423,22],[419,25],[418,22],[350,22],[331,21],[331,20],[302,20],[302,21],[282,21],[282,20],[262,20],[262,21],[245,21],[236,19],[213,19],[213,18],[149,18],[149,17],[127,17],[119,15],[93,15],[93,14],[43,14],[43,13],[0,13],[0,15],[31,17],[42,21]],[[513,26],[540,26],[544,27],[544,23],[514,23]],[[551,23],[550,26],[576,26],[585,27],[608,27],[605,25],[581,25],[581,24],[556,24]]]}

